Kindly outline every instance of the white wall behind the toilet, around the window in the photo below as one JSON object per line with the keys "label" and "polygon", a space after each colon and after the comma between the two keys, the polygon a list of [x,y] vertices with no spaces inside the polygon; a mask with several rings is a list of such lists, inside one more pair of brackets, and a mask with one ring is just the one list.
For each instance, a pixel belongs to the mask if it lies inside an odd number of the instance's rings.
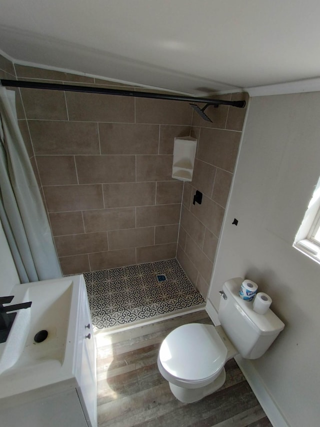
{"label": "white wall behind the toilet, around the window", "polygon": [[320,265],[292,248],[319,175],[320,93],[251,99],[209,300],[237,276],[271,296],[285,328],[250,363],[292,427],[320,419]]}

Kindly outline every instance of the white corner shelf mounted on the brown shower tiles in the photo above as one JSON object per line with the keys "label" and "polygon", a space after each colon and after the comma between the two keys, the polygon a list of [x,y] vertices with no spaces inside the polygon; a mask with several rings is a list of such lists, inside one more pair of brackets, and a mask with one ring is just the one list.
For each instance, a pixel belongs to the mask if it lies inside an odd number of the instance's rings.
{"label": "white corner shelf mounted on the brown shower tiles", "polygon": [[174,138],[172,178],[192,180],[196,143],[191,137]]}

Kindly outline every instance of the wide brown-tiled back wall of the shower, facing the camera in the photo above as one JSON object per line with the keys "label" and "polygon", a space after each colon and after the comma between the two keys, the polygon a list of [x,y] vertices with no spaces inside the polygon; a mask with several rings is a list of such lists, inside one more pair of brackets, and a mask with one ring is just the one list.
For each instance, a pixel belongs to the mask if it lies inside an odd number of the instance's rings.
{"label": "wide brown-tiled back wall of the shower, facing the camera", "polygon": [[[116,87],[33,67],[15,65],[15,71],[21,80]],[[20,93],[20,119],[29,131],[63,273],[175,257],[183,183],[171,178],[173,139],[190,133],[188,104]]]}

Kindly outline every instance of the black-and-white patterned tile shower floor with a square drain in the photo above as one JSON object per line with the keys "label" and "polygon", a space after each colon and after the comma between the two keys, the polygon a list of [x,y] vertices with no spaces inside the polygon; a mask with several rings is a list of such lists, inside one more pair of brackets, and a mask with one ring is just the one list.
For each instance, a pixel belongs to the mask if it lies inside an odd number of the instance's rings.
{"label": "black-and-white patterned tile shower floor with a square drain", "polygon": [[83,276],[94,331],[204,304],[175,258]]}

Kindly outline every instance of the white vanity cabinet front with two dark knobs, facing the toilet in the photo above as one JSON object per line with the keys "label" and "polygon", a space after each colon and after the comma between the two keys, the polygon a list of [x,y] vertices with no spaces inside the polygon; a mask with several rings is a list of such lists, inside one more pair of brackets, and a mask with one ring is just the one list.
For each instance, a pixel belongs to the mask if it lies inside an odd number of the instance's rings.
{"label": "white vanity cabinet front with two dark knobs, facing the toilet", "polygon": [[80,336],[82,336],[82,348],[78,393],[82,401],[85,417],[89,425],[95,427],[97,425],[96,352],[86,294],[81,301],[79,332]]}

